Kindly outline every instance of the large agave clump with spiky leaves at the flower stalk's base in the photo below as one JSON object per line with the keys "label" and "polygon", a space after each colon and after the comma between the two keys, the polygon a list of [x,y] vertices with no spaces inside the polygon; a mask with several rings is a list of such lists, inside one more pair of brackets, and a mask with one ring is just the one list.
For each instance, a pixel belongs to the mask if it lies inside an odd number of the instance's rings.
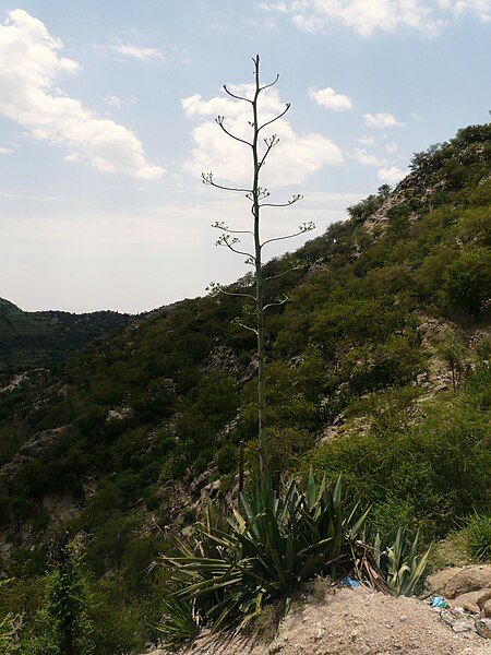
{"label": "large agave clump with spiky leaves at the flower stalk's base", "polygon": [[331,491],[312,472],[304,492],[295,483],[277,491],[265,476],[242,493],[241,508],[223,524],[208,517],[192,543],[160,560],[171,569],[176,598],[195,603],[213,630],[242,628],[275,599],[287,609],[302,582],[335,576],[368,514],[347,502],[340,479]]}

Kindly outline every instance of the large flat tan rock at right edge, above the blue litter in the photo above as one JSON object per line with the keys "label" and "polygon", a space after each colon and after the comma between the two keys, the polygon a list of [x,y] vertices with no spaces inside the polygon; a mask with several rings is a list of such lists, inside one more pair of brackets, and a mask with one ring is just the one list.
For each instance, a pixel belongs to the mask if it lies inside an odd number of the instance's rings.
{"label": "large flat tan rock at right edge, above the blue litter", "polygon": [[469,592],[491,588],[491,564],[452,567],[438,571],[429,575],[427,586],[448,599]]}

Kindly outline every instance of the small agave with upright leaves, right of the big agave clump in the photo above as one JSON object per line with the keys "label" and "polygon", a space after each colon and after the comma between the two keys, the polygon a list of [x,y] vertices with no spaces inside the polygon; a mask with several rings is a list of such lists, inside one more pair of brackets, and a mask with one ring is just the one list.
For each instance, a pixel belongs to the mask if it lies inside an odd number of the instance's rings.
{"label": "small agave with upright leaves, right of the big agave clump", "polygon": [[373,559],[394,596],[411,596],[415,593],[424,574],[429,555],[430,548],[419,552],[419,534],[410,541],[405,538],[402,526],[392,545],[382,548],[379,534],[374,540]]}

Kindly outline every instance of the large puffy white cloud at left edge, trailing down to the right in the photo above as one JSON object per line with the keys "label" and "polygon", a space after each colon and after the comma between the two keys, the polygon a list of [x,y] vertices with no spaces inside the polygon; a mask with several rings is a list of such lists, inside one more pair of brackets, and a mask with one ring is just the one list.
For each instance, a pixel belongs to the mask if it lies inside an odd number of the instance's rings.
{"label": "large puffy white cloud at left edge, trailing down to the right", "polygon": [[63,44],[45,24],[22,9],[0,25],[0,115],[27,128],[34,139],[68,146],[104,172],[154,180],[164,175],[151,165],[134,132],[96,118],[80,100],[55,86],[79,64],[60,56]]}

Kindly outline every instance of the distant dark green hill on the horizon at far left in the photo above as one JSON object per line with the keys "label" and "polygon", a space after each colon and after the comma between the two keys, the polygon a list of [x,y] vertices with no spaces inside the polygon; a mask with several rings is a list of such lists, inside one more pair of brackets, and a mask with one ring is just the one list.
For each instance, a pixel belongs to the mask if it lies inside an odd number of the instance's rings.
{"label": "distant dark green hill on the horizon at far left", "polygon": [[61,361],[133,321],[135,317],[115,311],[23,311],[0,298],[0,372]]}

